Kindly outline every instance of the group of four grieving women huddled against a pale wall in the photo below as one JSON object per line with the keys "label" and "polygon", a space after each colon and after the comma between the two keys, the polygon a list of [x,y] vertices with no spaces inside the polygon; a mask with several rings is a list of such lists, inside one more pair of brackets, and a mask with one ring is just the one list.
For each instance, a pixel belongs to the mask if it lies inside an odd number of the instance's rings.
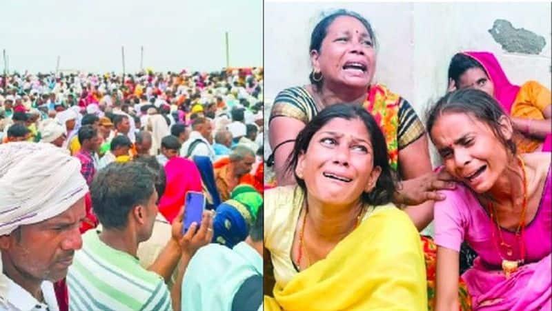
{"label": "group of four grieving women huddled against a pale wall", "polygon": [[311,83],[275,98],[265,308],[550,310],[549,88],[514,85],[491,52],[459,52],[424,124],[373,81],[376,51],[362,15],[325,14]]}

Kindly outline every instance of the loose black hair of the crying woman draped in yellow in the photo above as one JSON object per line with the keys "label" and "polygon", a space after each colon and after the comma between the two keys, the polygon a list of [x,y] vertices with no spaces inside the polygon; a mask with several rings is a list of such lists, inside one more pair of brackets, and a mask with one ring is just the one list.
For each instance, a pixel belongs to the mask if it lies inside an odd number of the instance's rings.
{"label": "loose black hair of the crying woman draped in yellow", "polygon": [[303,130],[297,134],[293,151],[288,158],[286,172],[293,172],[295,181],[297,181],[299,187],[306,192],[307,189],[304,180],[300,179],[297,174],[295,174],[299,156],[306,152],[316,132],[335,118],[346,120],[360,119],[362,123],[364,123],[366,130],[368,130],[370,134],[370,143],[373,149],[373,167],[380,166],[382,169],[380,177],[377,179],[375,187],[371,192],[362,193],[362,201],[370,205],[384,205],[391,202],[393,194],[395,193],[396,181],[391,165],[389,165],[389,155],[387,153],[385,137],[372,115],[361,106],[338,103],[328,106],[319,112],[306,124]]}

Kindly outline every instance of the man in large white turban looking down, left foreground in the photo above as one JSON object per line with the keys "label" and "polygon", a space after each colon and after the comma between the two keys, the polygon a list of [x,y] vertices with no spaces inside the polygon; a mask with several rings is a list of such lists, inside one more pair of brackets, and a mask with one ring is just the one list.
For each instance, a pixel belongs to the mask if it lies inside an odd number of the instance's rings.
{"label": "man in large white turban looking down, left foreground", "polygon": [[59,310],[88,192],[79,160],[50,143],[0,145],[0,310]]}

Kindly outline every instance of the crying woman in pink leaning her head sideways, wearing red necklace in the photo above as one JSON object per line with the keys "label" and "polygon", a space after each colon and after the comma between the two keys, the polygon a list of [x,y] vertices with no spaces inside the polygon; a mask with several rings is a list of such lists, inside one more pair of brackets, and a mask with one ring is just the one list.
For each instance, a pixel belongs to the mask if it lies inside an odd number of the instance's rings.
{"label": "crying woman in pink leaning her head sideways, wearing red necklace", "polygon": [[473,310],[551,310],[551,158],[517,154],[513,127],[481,90],[447,94],[427,130],[459,183],[435,203],[436,310],[457,310],[460,245],[479,257],[464,274]]}

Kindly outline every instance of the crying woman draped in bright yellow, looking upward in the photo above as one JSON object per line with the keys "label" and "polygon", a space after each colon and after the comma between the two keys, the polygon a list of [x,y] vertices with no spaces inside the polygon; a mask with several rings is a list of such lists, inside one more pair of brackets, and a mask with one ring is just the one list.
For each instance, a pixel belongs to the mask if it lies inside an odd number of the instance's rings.
{"label": "crying woman draped in bright yellow, looking upward", "polygon": [[330,106],[299,132],[297,185],[265,192],[274,267],[265,310],[427,310],[420,236],[395,208],[384,136],[363,108]]}

